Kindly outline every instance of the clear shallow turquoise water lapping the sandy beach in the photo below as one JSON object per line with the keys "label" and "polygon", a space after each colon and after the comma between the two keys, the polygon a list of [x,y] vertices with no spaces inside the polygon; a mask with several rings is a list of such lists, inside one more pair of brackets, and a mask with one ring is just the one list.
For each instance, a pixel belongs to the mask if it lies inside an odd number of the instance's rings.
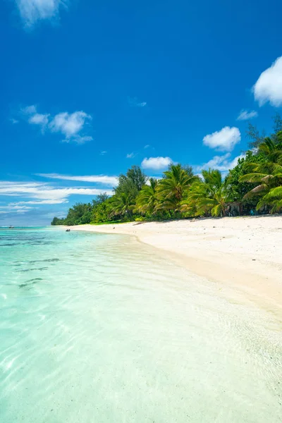
{"label": "clear shallow turquoise water lapping the sandy beach", "polygon": [[133,238],[0,228],[0,422],[282,422],[281,345]]}

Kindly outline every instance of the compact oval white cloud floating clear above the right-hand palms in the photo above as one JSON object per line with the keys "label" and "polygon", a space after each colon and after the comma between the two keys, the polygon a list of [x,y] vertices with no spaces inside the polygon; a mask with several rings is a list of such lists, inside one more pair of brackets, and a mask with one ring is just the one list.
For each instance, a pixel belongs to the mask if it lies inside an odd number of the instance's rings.
{"label": "compact oval white cloud floating clear above the right-hand palms", "polygon": [[225,126],[221,130],[206,135],[203,138],[204,145],[226,152],[231,152],[240,140],[240,130],[235,127],[230,128],[229,126]]}

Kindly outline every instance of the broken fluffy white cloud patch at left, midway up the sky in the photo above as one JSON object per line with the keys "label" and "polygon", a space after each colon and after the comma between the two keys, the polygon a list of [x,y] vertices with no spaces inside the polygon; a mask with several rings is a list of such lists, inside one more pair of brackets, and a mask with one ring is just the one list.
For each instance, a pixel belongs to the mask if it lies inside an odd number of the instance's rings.
{"label": "broken fluffy white cloud patch at left, midway up the sky", "polygon": [[23,114],[29,116],[28,123],[39,125],[42,128],[42,132],[48,128],[51,132],[61,133],[64,137],[64,142],[83,144],[93,140],[90,135],[82,133],[87,123],[92,120],[92,117],[86,114],[85,111],[75,111],[71,114],[64,111],[50,118],[50,114],[37,113],[37,107],[33,105],[25,107]]}

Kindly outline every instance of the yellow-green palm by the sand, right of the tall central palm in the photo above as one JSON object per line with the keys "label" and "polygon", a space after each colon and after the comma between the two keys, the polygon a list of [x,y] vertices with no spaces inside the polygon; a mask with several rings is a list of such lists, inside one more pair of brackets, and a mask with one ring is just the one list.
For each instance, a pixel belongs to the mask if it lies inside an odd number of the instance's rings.
{"label": "yellow-green palm by the sand, right of the tall central palm", "polygon": [[226,204],[229,202],[227,180],[223,180],[220,171],[214,169],[202,171],[202,177],[203,180],[192,184],[187,199],[181,203],[181,211],[194,212],[196,216],[226,216]]}

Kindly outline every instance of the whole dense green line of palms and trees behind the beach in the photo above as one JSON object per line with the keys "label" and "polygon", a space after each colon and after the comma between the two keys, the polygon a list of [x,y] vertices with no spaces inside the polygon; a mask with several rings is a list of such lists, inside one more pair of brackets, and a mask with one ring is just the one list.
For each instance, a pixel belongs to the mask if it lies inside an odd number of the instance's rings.
{"label": "whole dense green line of palms and trees behind the beach", "polygon": [[[253,128],[249,127],[250,130]],[[201,176],[190,166],[171,164],[161,179],[147,178],[132,166],[118,178],[114,195],[77,203],[66,219],[52,225],[181,219],[192,216],[236,216],[282,210],[282,130],[261,137],[252,133],[252,149],[223,178],[215,169]]]}

